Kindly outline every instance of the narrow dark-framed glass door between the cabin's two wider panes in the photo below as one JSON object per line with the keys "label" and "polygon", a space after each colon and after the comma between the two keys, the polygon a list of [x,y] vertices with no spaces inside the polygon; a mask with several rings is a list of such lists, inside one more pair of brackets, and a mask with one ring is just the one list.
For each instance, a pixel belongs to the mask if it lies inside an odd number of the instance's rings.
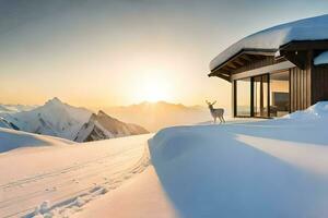
{"label": "narrow dark-framed glass door between the cabin's two wider panes", "polygon": [[253,112],[254,117],[269,116],[269,74],[253,77]]}

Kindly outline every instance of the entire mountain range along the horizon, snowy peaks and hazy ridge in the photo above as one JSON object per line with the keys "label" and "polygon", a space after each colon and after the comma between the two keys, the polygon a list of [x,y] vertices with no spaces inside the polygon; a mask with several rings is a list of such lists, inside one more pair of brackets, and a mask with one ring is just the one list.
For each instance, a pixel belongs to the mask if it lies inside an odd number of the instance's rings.
{"label": "entire mountain range along the horizon, snowy peaks and hazy ridge", "polygon": [[[110,116],[108,116],[110,114]],[[166,101],[141,102],[93,111],[58,98],[43,106],[0,105],[0,128],[89,142],[156,132],[211,120],[207,108]],[[138,124],[132,124],[138,123]]]}

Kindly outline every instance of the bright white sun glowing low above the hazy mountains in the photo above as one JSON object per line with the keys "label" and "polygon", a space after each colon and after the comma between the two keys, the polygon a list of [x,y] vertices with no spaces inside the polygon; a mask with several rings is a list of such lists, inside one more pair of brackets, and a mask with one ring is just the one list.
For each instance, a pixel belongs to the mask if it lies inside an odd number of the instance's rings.
{"label": "bright white sun glowing low above the hazy mountains", "polygon": [[149,71],[143,73],[140,80],[140,88],[138,88],[137,99],[139,101],[160,101],[171,99],[169,80],[163,71]]}

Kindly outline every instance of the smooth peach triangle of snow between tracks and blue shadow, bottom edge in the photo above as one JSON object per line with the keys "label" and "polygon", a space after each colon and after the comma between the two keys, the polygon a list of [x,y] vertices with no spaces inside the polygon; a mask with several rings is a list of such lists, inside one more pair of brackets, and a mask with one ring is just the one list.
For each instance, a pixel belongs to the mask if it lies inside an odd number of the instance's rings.
{"label": "smooth peach triangle of snow between tracks and blue shadow, bottom edge", "polygon": [[91,202],[73,218],[104,217],[178,217],[167,198],[153,167],[127,181],[108,195]]}

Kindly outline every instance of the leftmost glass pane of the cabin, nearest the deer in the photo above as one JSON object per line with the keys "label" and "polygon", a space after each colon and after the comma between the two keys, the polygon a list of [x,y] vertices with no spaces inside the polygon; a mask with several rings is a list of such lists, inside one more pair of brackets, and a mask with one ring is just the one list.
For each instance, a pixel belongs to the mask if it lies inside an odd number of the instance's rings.
{"label": "leftmost glass pane of the cabin, nearest the deer", "polygon": [[250,117],[250,78],[237,80],[236,116]]}

